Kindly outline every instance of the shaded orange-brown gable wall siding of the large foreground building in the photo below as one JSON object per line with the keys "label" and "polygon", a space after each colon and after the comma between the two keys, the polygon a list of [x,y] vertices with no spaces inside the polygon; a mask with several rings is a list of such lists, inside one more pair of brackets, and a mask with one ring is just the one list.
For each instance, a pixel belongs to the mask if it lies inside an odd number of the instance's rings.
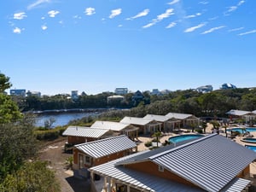
{"label": "shaded orange-brown gable wall siding of the large foreground building", "polygon": [[131,168],[138,172],[145,172],[147,174],[154,175],[156,177],[163,177],[166,179],[170,179],[172,181],[176,181],[178,183],[183,183],[183,184],[198,188],[198,186],[196,186],[194,183],[190,183],[189,181],[183,179],[183,177],[179,177],[176,174],[169,172],[166,169],[164,169],[164,172],[160,172],[159,166],[154,164],[151,161],[144,161],[141,163],[129,164],[129,165],[125,165],[125,167]]}

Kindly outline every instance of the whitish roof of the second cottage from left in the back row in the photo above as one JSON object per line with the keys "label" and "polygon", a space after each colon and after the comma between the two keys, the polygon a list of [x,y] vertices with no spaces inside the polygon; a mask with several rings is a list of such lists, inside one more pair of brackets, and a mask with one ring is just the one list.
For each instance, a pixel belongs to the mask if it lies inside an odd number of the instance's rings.
{"label": "whitish roof of the second cottage from left in the back row", "polygon": [[129,125],[122,124],[119,122],[113,122],[113,121],[102,121],[102,120],[96,120],[96,122],[91,125],[92,128],[100,128],[100,129],[107,129],[112,131],[122,131]]}

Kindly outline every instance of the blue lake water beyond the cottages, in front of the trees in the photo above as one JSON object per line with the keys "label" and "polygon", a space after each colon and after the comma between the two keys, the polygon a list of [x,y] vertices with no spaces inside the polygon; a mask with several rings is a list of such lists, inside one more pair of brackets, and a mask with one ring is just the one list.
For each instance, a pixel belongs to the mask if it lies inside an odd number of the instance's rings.
{"label": "blue lake water beyond the cottages, in front of the trees", "polygon": [[50,118],[55,119],[53,126],[67,125],[69,121],[74,119],[82,119],[84,117],[96,116],[99,112],[84,112],[84,113],[52,113],[52,114],[40,114],[36,118],[36,126],[44,126],[45,120]]}

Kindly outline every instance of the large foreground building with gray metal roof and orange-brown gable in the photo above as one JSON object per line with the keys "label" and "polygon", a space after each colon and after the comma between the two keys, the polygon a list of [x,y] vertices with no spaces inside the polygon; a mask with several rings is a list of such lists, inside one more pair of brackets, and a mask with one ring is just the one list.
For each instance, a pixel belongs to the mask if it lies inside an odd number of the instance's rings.
{"label": "large foreground building with gray metal roof and orange-brown gable", "polygon": [[[90,168],[107,191],[247,191],[253,150],[212,134]],[[96,191],[91,179],[91,191]]]}

